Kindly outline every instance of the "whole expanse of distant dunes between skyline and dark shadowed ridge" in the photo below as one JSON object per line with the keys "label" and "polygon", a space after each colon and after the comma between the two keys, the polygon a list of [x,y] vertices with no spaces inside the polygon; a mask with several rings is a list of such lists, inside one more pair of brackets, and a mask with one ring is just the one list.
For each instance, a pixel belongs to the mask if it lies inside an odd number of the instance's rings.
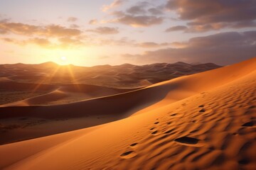
{"label": "whole expanse of distant dunes between skyline and dark shadowed ridge", "polygon": [[1,64],[0,105],[71,103],[132,91],[160,81],[218,67],[220,66],[216,64],[191,65],[183,62],[95,67],[60,66],[54,62]]}

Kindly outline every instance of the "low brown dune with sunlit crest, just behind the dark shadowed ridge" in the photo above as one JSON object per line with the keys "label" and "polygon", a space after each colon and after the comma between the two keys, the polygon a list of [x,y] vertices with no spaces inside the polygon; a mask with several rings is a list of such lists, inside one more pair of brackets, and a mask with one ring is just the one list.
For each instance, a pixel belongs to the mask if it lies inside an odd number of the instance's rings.
{"label": "low brown dune with sunlit crest, just behind the dark shadowed ridge", "polygon": [[[15,83],[16,84],[16,83]],[[18,83],[22,84],[22,83]],[[10,86],[9,82],[6,82],[6,86]],[[26,88],[31,88],[23,85],[23,90]],[[36,86],[36,85],[35,85]],[[43,86],[43,85],[41,85]],[[9,107],[9,106],[38,106],[38,105],[56,105],[62,103],[72,103],[75,101],[82,101],[90,98],[97,98],[101,96],[110,96],[114,94],[120,94],[127,91],[132,91],[133,89],[112,89],[102,86],[94,86],[87,84],[69,84],[69,85],[60,85],[53,86],[50,85],[51,91],[42,90],[42,87],[38,86],[37,91],[43,91],[44,93],[38,96],[31,98],[26,98],[21,101],[14,103],[7,103],[0,107]],[[28,92],[29,93],[29,92]],[[31,92],[33,94],[33,91]]]}

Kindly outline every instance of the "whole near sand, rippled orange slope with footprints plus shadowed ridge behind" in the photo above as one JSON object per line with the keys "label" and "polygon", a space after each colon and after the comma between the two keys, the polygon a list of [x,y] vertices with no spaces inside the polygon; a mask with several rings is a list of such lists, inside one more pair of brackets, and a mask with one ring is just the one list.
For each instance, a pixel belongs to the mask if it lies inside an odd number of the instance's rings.
{"label": "whole near sand, rippled orange slope with footprints plus shadowed ridge behind", "polygon": [[28,121],[6,133],[34,139],[2,140],[13,143],[0,146],[0,169],[256,169],[255,77],[252,58],[111,96],[3,105],[1,122]]}

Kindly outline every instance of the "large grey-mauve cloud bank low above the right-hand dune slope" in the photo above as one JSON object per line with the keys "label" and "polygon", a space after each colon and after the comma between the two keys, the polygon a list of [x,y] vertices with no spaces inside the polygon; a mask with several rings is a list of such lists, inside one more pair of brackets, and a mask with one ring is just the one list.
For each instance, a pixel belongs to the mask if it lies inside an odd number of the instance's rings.
{"label": "large grey-mauve cloud bank low above the right-hand dune slope", "polygon": [[183,46],[146,51],[142,55],[126,54],[122,57],[140,64],[177,61],[232,64],[256,56],[256,31],[218,33],[191,38],[188,42],[179,44],[176,42],[176,45]]}

